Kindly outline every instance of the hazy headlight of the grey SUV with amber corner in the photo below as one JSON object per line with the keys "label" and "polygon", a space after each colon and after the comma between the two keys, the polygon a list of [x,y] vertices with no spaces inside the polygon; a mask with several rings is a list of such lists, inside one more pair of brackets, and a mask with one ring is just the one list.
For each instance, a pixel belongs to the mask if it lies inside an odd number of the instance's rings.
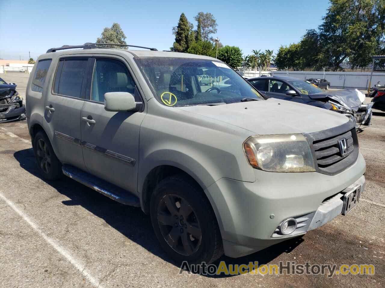
{"label": "hazy headlight of the grey SUV with amber corner", "polygon": [[310,145],[302,134],[251,136],[243,143],[249,164],[269,172],[315,171]]}

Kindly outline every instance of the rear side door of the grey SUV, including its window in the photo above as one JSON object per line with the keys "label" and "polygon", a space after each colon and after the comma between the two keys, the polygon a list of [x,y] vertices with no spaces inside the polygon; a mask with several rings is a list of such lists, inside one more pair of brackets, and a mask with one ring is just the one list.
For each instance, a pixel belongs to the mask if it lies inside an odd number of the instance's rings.
{"label": "rear side door of the grey SUV, including its window", "polygon": [[80,111],[89,59],[85,56],[59,58],[52,89],[45,99],[43,124],[49,134],[54,135],[52,146],[59,160],[82,170],[85,165],[80,146]]}

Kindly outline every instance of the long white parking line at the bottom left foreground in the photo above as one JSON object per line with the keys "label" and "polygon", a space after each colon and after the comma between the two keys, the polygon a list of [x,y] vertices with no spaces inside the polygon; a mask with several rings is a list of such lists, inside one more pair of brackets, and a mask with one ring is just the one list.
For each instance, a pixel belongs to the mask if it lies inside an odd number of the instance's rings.
{"label": "long white parking line at the bottom left foreground", "polygon": [[45,235],[44,232],[39,228],[37,224],[35,224],[26,214],[24,214],[21,210],[19,210],[10,200],[5,197],[2,192],[0,192],[0,198],[2,198],[17,214],[19,214],[25,222],[27,222],[41,237],[44,238],[47,243],[49,243],[52,247],[55,248],[57,252],[59,252],[64,258],[66,258],[72,265],[75,266],[77,270],[82,273],[82,275],[95,287],[102,288],[100,285],[100,281],[92,276],[90,272],[85,268],[85,265],[81,264],[79,260],[72,257],[70,253],[61,247],[54,239]]}

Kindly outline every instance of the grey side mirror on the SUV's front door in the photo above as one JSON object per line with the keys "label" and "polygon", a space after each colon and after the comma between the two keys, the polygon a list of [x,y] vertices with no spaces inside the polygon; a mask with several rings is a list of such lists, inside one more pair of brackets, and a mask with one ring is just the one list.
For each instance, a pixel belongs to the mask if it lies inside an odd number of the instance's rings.
{"label": "grey side mirror on the SUV's front door", "polygon": [[118,112],[136,108],[134,95],[128,92],[108,92],[104,94],[104,109]]}

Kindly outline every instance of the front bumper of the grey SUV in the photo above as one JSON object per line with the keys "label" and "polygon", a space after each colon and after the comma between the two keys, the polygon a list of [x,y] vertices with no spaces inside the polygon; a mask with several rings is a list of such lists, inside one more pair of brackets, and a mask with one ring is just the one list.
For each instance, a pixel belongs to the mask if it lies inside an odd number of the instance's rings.
{"label": "front bumper of the grey SUV", "polygon": [[[365,160],[358,154],[355,164],[334,176],[255,170],[257,180],[253,183],[218,180],[206,189],[206,194],[218,219],[225,255],[234,258],[248,255],[330,221],[341,214],[342,208],[338,211],[333,206],[333,211],[326,211],[323,205],[321,209],[330,213],[322,216],[320,206],[325,199],[343,194],[353,184],[363,185],[365,169]],[[273,235],[283,220],[305,215],[308,222],[300,233]],[[317,220],[313,222],[315,217]]]}

